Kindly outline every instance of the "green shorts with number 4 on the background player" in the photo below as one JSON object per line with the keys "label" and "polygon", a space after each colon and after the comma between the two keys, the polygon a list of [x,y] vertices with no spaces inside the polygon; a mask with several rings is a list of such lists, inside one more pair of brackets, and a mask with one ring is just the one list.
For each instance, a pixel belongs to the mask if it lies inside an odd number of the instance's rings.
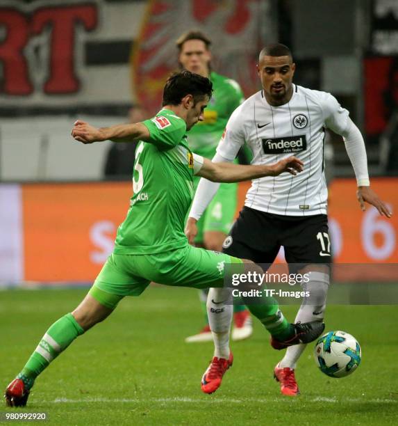
{"label": "green shorts with number 4 on the background player", "polygon": [[197,222],[198,233],[194,239],[195,243],[202,244],[204,232],[208,231],[219,231],[228,235],[235,216],[237,198],[237,184],[219,185],[217,194]]}

